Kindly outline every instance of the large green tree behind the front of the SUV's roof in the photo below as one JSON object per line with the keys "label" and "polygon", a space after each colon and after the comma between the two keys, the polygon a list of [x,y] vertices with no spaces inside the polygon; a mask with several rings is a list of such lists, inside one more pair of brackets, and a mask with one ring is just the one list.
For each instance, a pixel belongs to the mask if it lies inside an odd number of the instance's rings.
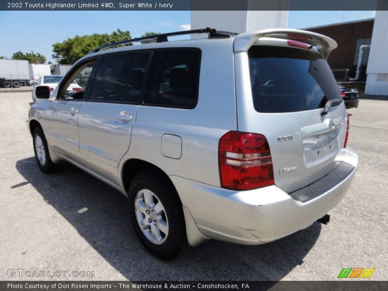
{"label": "large green tree behind the front of the SUV's roof", "polygon": [[93,33],[89,35],[76,35],[67,38],[61,43],[53,44],[52,51],[54,54],[52,57],[57,60],[58,64],[71,65],[93,49],[126,39],[131,39],[129,31],[121,31],[120,29],[117,29],[111,34]]}

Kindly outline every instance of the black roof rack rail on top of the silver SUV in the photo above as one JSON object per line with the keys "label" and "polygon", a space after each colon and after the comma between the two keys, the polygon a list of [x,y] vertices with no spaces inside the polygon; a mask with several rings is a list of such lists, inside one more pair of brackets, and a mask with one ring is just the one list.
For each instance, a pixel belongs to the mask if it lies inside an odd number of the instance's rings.
{"label": "black roof rack rail on top of the silver SUV", "polygon": [[152,40],[156,42],[166,42],[168,41],[167,36],[175,36],[175,35],[185,35],[185,34],[194,34],[194,33],[208,33],[209,38],[229,38],[231,35],[236,35],[235,32],[218,32],[214,28],[207,27],[205,29],[194,29],[189,31],[182,31],[182,32],[169,32],[169,33],[162,33],[162,34],[155,34],[150,36],[144,36],[144,37],[138,37],[138,38],[132,38],[132,39],[126,39],[122,41],[118,41],[115,43],[103,45],[97,49],[92,50],[90,53],[94,53],[99,51],[100,49],[106,49],[109,47],[114,47],[118,45],[133,43],[133,42],[139,42],[144,40]]}

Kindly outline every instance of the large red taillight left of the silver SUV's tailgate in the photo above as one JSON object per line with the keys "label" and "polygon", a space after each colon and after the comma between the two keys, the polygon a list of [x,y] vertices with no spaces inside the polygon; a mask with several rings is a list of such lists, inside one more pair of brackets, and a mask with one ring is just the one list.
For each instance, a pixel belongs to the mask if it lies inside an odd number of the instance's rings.
{"label": "large red taillight left of the silver SUV's tailgate", "polygon": [[264,135],[229,131],[218,147],[221,187],[250,190],[274,185],[274,167]]}

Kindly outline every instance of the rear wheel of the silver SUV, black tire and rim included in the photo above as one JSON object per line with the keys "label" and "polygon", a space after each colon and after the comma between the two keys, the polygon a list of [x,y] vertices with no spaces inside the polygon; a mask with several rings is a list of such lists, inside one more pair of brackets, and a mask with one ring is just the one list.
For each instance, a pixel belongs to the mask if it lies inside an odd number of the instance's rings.
{"label": "rear wheel of the silver SUV, black tire and rim included", "polygon": [[168,178],[155,170],[141,171],[129,185],[128,206],[133,229],[151,254],[172,260],[184,253],[188,243],[182,203]]}

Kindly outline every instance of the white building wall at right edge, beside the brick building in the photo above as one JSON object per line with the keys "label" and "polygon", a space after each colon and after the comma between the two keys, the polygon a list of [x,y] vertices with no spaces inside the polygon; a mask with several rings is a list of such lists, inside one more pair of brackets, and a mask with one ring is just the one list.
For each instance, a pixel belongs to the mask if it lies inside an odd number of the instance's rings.
{"label": "white building wall at right edge, beside the brick building", "polygon": [[365,93],[388,95],[388,11],[376,11]]}

